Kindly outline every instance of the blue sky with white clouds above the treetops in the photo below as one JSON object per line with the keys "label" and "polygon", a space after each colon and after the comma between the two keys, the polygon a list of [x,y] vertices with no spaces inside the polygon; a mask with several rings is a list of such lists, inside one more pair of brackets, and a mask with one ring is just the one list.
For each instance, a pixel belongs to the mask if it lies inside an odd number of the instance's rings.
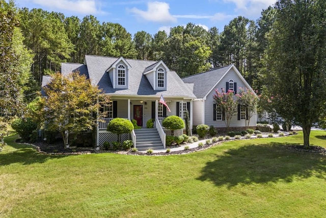
{"label": "blue sky with white clouds above the treetops", "polygon": [[42,8],[65,16],[94,15],[100,22],[120,23],[133,36],[138,31],[154,35],[159,30],[195,23],[208,30],[224,26],[237,16],[257,20],[275,0],[15,0],[17,7]]}

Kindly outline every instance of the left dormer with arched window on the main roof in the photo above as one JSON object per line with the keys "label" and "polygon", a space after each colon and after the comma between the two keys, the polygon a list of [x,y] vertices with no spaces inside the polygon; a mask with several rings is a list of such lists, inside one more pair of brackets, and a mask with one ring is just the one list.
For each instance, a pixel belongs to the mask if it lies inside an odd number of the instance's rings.
{"label": "left dormer with arched window on the main roof", "polygon": [[106,69],[113,88],[128,89],[130,68],[131,66],[128,62],[123,57],[120,57]]}

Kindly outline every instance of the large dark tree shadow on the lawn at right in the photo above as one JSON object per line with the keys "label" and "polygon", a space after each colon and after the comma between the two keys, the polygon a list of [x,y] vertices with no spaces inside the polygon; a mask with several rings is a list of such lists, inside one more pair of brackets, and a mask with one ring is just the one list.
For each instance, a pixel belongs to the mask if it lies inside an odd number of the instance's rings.
{"label": "large dark tree shadow on the lawn at right", "polygon": [[[287,144],[290,146],[291,144]],[[243,146],[231,149],[207,162],[201,181],[230,187],[238,184],[268,183],[312,175],[326,178],[326,158],[315,153],[289,151],[283,143]]]}

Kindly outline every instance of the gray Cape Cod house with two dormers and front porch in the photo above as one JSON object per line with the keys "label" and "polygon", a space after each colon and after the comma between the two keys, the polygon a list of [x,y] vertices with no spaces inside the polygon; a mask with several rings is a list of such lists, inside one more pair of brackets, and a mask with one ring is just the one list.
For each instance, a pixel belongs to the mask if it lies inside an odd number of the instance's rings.
{"label": "gray Cape Cod house with two dormers and front porch", "polygon": [[[62,63],[63,76],[73,71],[86,75],[93,85],[97,85],[103,94],[110,95],[112,99],[110,108],[106,108],[107,117],[98,123],[97,148],[104,141],[115,140],[115,136],[106,131],[107,124],[115,117],[137,120],[142,129],[134,130],[129,137],[139,150],[165,148],[166,132],[161,126],[162,120],[170,115],[184,119],[186,110],[191,126],[207,124],[223,128],[225,124],[216,114],[213,104],[214,88],[233,89],[235,92],[237,87],[250,88],[234,65],[181,79],[163,61],[86,55],[84,64]],[[50,80],[44,77],[44,81],[42,86]],[[171,112],[159,103],[161,95]],[[146,123],[151,118],[155,119],[155,128],[149,130],[146,129]],[[234,119],[231,126],[244,127],[242,118],[240,115],[239,120]],[[250,126],[256,126],[255,119]]]}

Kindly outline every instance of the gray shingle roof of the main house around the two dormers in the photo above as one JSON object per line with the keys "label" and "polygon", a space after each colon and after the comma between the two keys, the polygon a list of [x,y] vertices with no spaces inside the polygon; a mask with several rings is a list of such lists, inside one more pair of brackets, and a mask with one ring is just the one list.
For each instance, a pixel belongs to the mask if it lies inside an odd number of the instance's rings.
{"label": "gray shingle roof of the main house around the two dormers", "polygon": [[[88,71],[88,76],[92,81],[93,85],[99,86],[104,93],[111,95],[154,95],[158,97],[163,94],[165,98],[167,97],[181,97],[181,98],[196,98],[194,93],[189,86],[186,85],[181,78],[174,71],[167,72],[167,90],[153,90],[151,84],[147,80],[147,77],[143,75],[144,70],[147,70],[155,66],[157,61],[145,61],[145,60],[133,60],[125,59],[131,66],[129,69],[129,88],[128,89],[114,89],[108,76],[105,72],[107,68],[112,66],[112,64],[117,61],[118,58],[113,57],[103,57],[103,56],[85,56],[85,63],[87,67],[83,64],[62,64],[62,74],[68,74],[75,67],[86,69]],[[80,70],[82,72],[82,70]]]}

